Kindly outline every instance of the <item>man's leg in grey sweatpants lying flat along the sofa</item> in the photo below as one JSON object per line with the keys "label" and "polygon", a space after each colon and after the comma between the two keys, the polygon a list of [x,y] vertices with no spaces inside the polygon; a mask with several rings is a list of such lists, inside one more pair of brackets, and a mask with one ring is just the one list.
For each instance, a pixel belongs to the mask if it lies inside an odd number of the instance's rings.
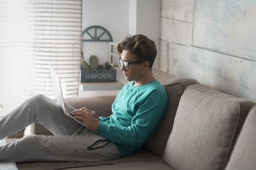
{"label": "man's leg in grey sweatpants lying flat along the sofa", "polygon": [[97,143],[94,150],[87,149],[98,140],[105,140],[105,138],[86,127],[77,129],[70,136],[26,136],[0,146],[0,162],[94,162],[121,157],[116,146],[108,141]]}

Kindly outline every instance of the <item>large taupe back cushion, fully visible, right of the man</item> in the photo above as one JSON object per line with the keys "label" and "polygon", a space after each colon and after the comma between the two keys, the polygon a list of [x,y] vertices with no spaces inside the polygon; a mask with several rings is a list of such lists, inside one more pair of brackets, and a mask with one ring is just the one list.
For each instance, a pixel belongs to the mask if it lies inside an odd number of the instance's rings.
{"label": "large taupe back cushion, fully visible, right of the man", "polygon": [[173,169],[223,169],[253,102],[205,85],[182,95],[163,159]]}

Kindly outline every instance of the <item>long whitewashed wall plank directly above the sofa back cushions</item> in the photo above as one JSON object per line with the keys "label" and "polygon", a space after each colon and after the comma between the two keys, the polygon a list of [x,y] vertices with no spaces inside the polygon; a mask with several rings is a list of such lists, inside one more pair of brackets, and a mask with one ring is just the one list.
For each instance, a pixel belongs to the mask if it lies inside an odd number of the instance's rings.
{"label": "long whitewashed wall plank directly above the sofa back cushions", "polygon": [[193,46],[169,44],[169,72],[256,101],[256,62]]}

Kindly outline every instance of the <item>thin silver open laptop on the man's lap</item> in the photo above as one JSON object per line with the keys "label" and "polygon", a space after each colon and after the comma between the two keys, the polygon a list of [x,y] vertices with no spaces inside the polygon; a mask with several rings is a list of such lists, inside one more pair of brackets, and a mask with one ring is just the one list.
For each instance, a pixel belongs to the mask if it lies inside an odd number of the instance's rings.
{"label": "thin silver open laptop on the man's lap", "polygon": [[76,109],[73,108],[72,106],[70,106],[69,104],[64,102],[63,99],[63,94],[62,94],[62,90],[61,90],[61,83],[60,83],[60,78],[57,75],[57,73],[54,71],[54,69],[52,68],[51,64],[49,64],[50,67],[50,73],[51,73],[51,79],[52,79],[52,85],[53,88],[55,90],[55,94],[56,94],[56,101],[58,102],[58,104],[60,104],[61,109],[63,110],[63,113],[71,118],[72,120],[75,120],[76,122],[78,122],[81,125],[84,125],[85,127],[87,127],[88,129],[90,129],[91,131],[97,133],[95,130],[93,130],[92,128],[88,127],[86,124],[84,124],[83,121],[81,120],[77,120],[76,118],[74,118],[71,115],[72,111],[75,111]]}

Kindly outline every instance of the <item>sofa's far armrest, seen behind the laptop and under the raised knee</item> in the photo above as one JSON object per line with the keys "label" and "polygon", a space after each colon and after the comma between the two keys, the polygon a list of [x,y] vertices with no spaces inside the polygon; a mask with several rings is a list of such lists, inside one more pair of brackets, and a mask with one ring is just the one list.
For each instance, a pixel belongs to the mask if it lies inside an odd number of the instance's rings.
{"label": "sofa's far armrest, seen behind the laptop and under the raised knee", "polygon": [[[64,99],[65,103],[70,104],[74,108],[86,107],[90,110],[96,111],[97,116],[108,117],[112,114],[111,106],[115,101],[115,96],[99,96],[99,97],[70,97]],[[31,134],[52,135],[52,133],[39,123],[31,125]]]}

